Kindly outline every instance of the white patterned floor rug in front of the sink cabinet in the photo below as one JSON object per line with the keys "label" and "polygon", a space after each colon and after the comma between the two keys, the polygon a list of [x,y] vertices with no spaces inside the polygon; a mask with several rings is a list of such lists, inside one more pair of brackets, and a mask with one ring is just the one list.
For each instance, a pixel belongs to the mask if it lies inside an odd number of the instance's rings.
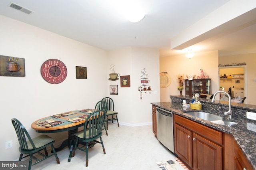
{"label": "white patterned floor rug in front of the sink cabinet", "polygon": [[178,158],[156,162],[162,170],[189,170]]}

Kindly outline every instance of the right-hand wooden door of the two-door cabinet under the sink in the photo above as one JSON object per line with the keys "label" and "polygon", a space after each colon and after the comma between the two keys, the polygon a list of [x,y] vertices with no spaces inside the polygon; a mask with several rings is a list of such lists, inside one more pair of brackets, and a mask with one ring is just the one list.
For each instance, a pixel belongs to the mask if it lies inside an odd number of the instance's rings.
{"label": "right-hand wooden door of the two-door cabinet under the sink", "polygon": [[193,133],[193,168],[196,170],[221,170],[222,147]]}

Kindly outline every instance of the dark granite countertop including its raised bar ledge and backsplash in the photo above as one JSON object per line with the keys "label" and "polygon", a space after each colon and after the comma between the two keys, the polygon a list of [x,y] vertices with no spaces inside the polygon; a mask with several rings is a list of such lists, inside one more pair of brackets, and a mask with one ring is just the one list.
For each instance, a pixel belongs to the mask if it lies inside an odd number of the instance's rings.
{"label": "dark granite countertop including its raised bar ledge and backsplash", "polygon": [[[245,157],[247,158],[248,162],[251,164],[251,166],[254,168],[254,170],[256,170],[256,150],[255,150],[255,146],[254,146],[256,143],[256,132],[247,129],[248,126],[250,126],[250,125],[255,125],[255,127],[256,127],[256,121],[246,119],[246,112],[244,115],[244,111],[239,110],[239,109],[245,109],[245,111],[248,110],[248,111],[252,111],[252,112],[256,113],[256,106],[254,106],[254,105],[236,105],[236,103],[232,103],[231,110],[233,112],[233,118],[232,118],[232,120],[229,120],[229,121],[233,121],[238,124],[232,125],[231,127],[229,127],[228,125],[218,125],[216,123],[212,123],[212,122],[209,122],[209,121],[206,121],[203,119],[192,117],[191,115],[188,115],[184,112],[198,111],[198,110],[190,109],[190,107],[183,107],[181,102],[180,103],[173,102],[173,100],[176,100],[176,99],[178,99],[178,101],[180,101],[181,99],[186,99],[186,100],[188,100],[188,101],[186,101],[186,103],[189,103],[189,101],[191,101],[191,99],[192,99],[191,97],[185,97],[185,96],[179,96],[179,95],[171,96],[171,97],[175,97],[175,99],[172,98],[172,102],[159,102],[159,103],[151,103],[151,104],[156,107],[165,109],[167,111],[171,111],[172,113],[175,113],[182,117],[186,117],[187,119],[198,122],[207,127],[214,128],[216,130],[219,130],[221,132],[226,132],[228,134],[232,134],[232,136],[234,137],[234,140],[236,140],[238,146],[242,150],[242,152],[245,155]],[[179,97],[180,97],[180,99],[179,99]],[[202,103],[202,106],[203,106],[201,111],[212,113],[214,115],[220,115],[220,116],[224,117],[223,113],[226,110],[223,111],[223,108],[221,108],[221,111],[220,111],[220,109],[219,110],[212,109],[208,105],[213,105],[213,104],[208,99],[202,99],[202,100],[199,99],[199,101]],[[228,106],[226,106],[226,103],[223,101],[216,101],[215,104],[223,105],[223,106],[227,107],[227,109],[228,109]],[[244,116],[245,116],[245,118],[244,118]],[[256,131],[256,128],[254,128],[254,130]]]}

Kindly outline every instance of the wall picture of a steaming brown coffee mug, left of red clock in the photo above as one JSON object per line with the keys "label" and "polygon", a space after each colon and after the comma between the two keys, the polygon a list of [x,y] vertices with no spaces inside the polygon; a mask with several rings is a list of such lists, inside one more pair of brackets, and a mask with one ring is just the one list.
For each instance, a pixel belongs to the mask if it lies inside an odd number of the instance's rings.
{"label": "wall picture of a steaming brown coffee mug, left of red clock", "polygon": [[25,59],[0,55],[0,76],[25,77]]}

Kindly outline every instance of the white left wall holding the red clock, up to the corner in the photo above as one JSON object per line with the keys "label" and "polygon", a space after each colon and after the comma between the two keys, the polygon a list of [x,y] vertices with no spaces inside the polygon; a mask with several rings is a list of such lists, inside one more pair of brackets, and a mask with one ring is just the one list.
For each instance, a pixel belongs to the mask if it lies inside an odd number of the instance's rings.
{"label": "white left wall holding the red clock, up to the corner", "polygon": [[[76,109],[94,108],[108,94],[105,63],[106,51],[70,40],[63,36],[0,16],[0,55],[25,59],[26,77],[0,76],[0,160],[16,160],[18,140],[11,119],[19,119],[32,137],[39,135],[30,128],[34,121]],[[47,59],[56,58],[68,69],[60,84],[47,83],[40,68]],[[100,61],[100,62],[99,62]],[[87,67],[87,79],[76,79],[75,66]],[[68,132],[49,134],[56,144]],[[13,147],[6,150],[5,142]]]}

